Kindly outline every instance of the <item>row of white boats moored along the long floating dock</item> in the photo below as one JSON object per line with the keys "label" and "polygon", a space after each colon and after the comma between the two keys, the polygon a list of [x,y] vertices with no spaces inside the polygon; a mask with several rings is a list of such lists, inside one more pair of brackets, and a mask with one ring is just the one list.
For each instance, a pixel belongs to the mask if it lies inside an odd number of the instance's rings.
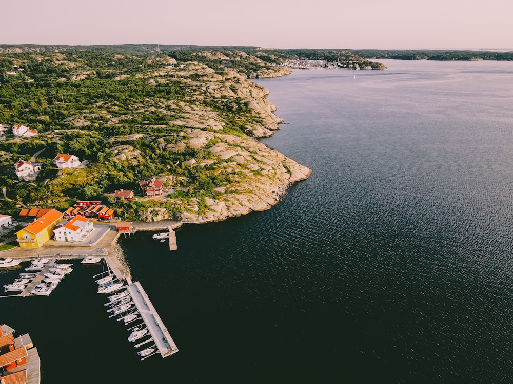
{"label": "row of white boats moored along the long floating dock", "polygon": [[[109,296],[109,302],[105,304],[105,306],[109,307],[107,310],[109,317],[117,317],[116,320],[123,322],[126,326],[131,323],[141,321],[140,324],[128,328],[130,331],[128,341],[132,343],[137,342],[135,347],[142,348],[137,352],[137,355],[141,357],[141,360],[159,353],[146,324],[142,321],[142,317],[137,306],[132,300],[130,292],[126,289],[127,286],[124,285],[123,282],[117,280],[117,278],[113,278],[110,270],[106,273],[108,274],[103,278],[96,280],[96,283],[98,284],[98,293],[117,292]],[[148,346],[149,343],[153,343],[153,345]]]}

